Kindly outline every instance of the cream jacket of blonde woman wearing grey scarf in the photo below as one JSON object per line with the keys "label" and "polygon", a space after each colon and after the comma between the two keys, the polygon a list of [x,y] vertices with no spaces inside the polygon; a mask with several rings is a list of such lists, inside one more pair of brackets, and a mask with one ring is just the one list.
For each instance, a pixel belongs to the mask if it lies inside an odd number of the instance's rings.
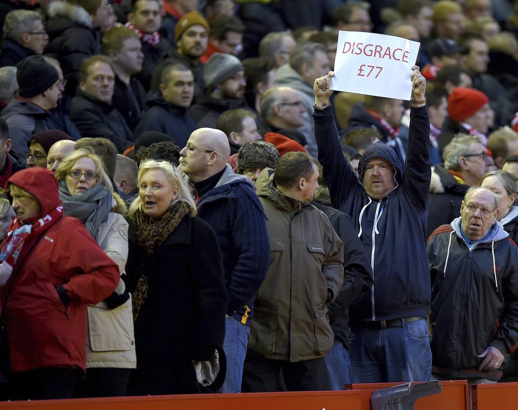
{"label": "cream jacket of blonde woman wearing grey scarf", "polygon": [[[108,219],[100,225],[97,242],[106,254],[119,266],[121,276],[128,256],[128,223],[123,217],[124,200],[113,194],[114,207]],[[124,281],[119,280],[115,290],[125,291]],[[133,330],[132,299],[108,309],[106,303],[88,305],[87,369],[92,367],[117,367],[135,369],[135,336]]]}

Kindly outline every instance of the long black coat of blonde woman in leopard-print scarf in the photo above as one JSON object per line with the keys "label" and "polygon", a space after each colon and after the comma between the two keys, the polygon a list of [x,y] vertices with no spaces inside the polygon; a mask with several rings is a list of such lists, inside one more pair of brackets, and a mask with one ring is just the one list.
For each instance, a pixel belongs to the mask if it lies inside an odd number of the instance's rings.
{"label": "long black coat of blonde woman in leopard-print scarf", "polygon": [[147,255],[128,222],[126,289],[134,293],[142,274],[148,283],[135,321],[138,365],[128,394],[199,392],[191,360],[222,347],[225,335],[227,294],[214,231],[186,216]]}

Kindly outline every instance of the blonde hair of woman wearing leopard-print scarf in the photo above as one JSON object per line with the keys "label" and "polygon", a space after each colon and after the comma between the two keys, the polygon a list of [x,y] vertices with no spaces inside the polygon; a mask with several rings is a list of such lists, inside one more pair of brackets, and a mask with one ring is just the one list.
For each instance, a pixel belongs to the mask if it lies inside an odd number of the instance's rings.
{"label": "blonde hair of woman wearing leopard-print scarf", "polygon": [[[145,162],[140,163],[140,167],[138,169],[138,184],[137,187],[140,187],[140,181],[142,180],[142,177],[144,174],[146,174],[148,171],[153,170],[162,170],[166,176],[167,181],[171,184],[173,187],[178,187],[178,196],[176,197],[176,200],[174,202],[171,202],[171,205],[182,201],[189,205],[191,207],[191,215],[196,216],[197,210],[196,210],[196,204],[194,203],[193,199],[193,192],[189,185],[187,185],[187,182],[183,180],[183,178],[180,176],[179,172],[176,171],[176,168],[173,164],[171,164],[169,161],[154,161],[149,160]],[[135,219],[135,214],[137,211],[143,211],[143,204],[142,200],[140,199],[140,195],[137,195],[135,200],[130,205],[130,210],[128,211],[128,215],[133,220]]]}

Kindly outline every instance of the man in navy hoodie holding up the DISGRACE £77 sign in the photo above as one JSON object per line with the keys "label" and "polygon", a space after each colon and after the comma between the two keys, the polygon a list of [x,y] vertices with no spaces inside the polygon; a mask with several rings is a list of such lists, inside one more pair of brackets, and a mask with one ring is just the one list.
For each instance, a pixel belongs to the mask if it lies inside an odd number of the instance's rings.
{"label": "man in navy hoodie holding up the DISGRACE \u00a377 sign", "polygon": [[372,291],[350,309],[353,383],[428,380],[426,215],[431,161],[426,80],[413,66],[405,166],[392,148],[377,142],[365,150],[356,178],[343,157],[329,103],[334,75],[329,72],[313,85],[319,161],[333,206],[352,217],[374,274]]}

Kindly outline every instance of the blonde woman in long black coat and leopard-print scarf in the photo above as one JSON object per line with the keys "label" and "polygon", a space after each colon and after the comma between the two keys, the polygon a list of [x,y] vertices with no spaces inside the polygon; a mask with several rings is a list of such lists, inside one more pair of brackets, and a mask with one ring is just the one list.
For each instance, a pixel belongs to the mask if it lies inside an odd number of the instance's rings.
{"label": "blonde woman in long black coat and leopard-print scarf", "polygon": [[211,360],[216,351],[217,389],[225,377],[227,295],[214,231],[196,216],[192,192],[170,162],[142,162],[138,189],[128,214],[137,346],[128,394],[199,393],[193,361]]}

